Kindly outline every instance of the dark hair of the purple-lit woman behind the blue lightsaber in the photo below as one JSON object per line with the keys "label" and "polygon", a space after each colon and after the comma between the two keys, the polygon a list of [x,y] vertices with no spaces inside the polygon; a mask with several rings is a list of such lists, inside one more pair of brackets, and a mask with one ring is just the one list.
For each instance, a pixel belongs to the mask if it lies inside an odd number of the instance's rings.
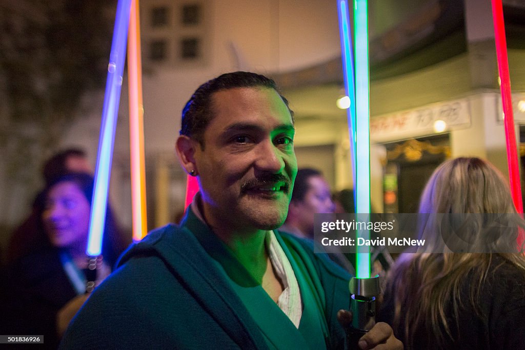
{"label": "dark hair of the purple-lit woman behind the blue lightsaber", "polygon": [[[85,173],[68,173],[58,176],[46,186],[44,189],[44,197],[47,197],[47,194],[51,188],[62,182],[72,182],[76,184],[88,200],[89,206],[91,207],[94,185],[94,179],[91,175]],[[43,225],[40,226],[43,227]],[[44,234],[44,236],[46,235]],[[113,211],[108,204],[102,238],[102,255],[104,260],[109,264],[109,266],[112,267],[124,249],[124,237],[122,236],[121,230],[119,229],[119,226],[117,225],[117,222],[113,216]]]}

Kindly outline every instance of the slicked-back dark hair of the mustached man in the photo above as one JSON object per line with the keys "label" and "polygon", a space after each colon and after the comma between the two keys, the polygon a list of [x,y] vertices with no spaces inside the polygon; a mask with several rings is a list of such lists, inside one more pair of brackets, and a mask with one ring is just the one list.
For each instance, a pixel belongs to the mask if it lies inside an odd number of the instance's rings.
{"label": "slicked-back dark hair of the mustached man", "polygon": [[[198,87],[182,110],[181,135],[186,135],[198,141],[204,149],[204,130],[213,118],[212,95],[221,90],[235,88],[267,88],[279,93],[274,80],[257,73],[237,71],[225,73]],[[280,93],[282,101],[292,115],[293,111],[288,106],[288,100]]]}

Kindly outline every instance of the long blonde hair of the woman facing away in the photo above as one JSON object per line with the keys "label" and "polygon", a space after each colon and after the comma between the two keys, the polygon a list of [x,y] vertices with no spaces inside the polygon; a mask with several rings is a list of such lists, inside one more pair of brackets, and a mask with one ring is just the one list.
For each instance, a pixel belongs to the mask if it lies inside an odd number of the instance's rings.
{"label": "long blonde hair of the woman facing away", "polygon": [[[516,209],[501,173],[490,163],[469,157],[446,161],[434,171],[421,196],[419,213],[501,214],[516,213]],[[427,223],[425,231],[435,233],[437,225]],[[515,247],[515,239],[516,234],[507,235],[500,243]],[[503,258],[497,266],[494,254]],[[434,338],[432,343],[437,346],[454,340],[459,325],[450,320],[457,320],[460,306],[465,303],[460,297],[462,291],[468,291],[468,302],[478,316],[488,317],[476,302],[479,290],[487,275],[505,261],[521,269],[525,278],[525,258],[517,253],[402,254],[388,274],[385,295],[393,298],[392,325],[403,331],[399,335],[407,348],[412,348],[414,340],[422,335]]]}

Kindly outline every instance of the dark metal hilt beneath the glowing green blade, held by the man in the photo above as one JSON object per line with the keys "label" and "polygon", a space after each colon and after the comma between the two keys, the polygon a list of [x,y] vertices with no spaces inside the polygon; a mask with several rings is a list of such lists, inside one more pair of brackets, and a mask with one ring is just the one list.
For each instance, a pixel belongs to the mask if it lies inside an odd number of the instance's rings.
{"label": "dark metal hilt beneath the glowing green blade, held by the man", "polygon": [[358,348],[360,338],[375,324],[375,300],[379,295],[379,275],[371,278],[353,277],[349,283],[352,326],[346,331],[346,347]]}

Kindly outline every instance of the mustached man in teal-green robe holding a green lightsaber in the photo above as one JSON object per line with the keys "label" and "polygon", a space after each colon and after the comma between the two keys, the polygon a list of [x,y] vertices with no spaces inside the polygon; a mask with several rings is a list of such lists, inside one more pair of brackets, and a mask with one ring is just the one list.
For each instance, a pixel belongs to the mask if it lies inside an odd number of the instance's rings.
{"label": "mustached man in teal-green robe holding a green lightsaber", "polygon": [[[176,152],[200,192],[181,226],[121,257],[64,348],[343,348],[348,280],[279,232],[297,174],[292,112],[275,82],[234,72],[199,87]],[[348,313],[341,315],[348,322]],[[361,348],[402,348],[380,323]]]}

